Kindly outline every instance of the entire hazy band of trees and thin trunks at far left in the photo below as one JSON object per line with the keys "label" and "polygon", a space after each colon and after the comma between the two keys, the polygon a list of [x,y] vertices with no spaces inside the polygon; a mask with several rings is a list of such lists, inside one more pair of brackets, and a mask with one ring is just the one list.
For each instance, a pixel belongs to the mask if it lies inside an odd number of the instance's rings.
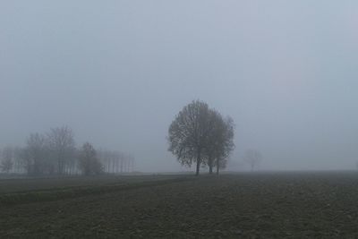
{"label": "entire hazy band of trees and thin trunks at far left", "polygon": [[68,126],[30,133],[25,147],[0,149],[4,173],[27,175],[98,175],[132,172],[134,158],[119,151],[96,150],[89,143],[76,148]]}

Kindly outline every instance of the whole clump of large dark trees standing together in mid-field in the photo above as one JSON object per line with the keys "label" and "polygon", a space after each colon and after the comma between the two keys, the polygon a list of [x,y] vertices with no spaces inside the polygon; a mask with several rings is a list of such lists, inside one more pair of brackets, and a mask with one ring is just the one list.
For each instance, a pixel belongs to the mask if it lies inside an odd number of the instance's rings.
{"label": "whole clump of large dark trees standing together in mid-field", "polygon": [[209,166],[209,174],[215,167],[218,174],[234,150],[234,121],[207,103],[194,100],[175,116],[167,140],[168,150],[183,166],[196,165],[196,175],[201,166]]}

